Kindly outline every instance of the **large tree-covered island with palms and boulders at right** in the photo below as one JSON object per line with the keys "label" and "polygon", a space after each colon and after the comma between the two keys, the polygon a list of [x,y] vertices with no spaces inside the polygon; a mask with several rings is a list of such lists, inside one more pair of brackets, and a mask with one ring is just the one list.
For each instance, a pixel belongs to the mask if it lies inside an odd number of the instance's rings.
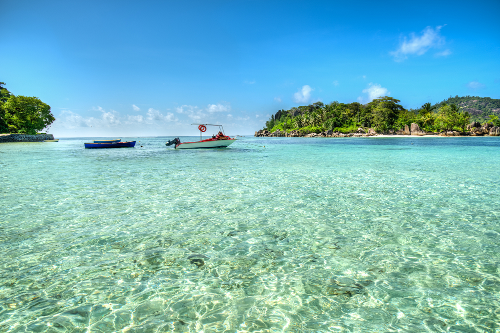
{"label": "large tree-covered island with palms and boulders at right", "polygon": [[425,103],[409,110],[399,102],[381,96],[364,105],[315,102],[278,110],[254,136],[500,136],[500,99],[450,96],[434,105]]}

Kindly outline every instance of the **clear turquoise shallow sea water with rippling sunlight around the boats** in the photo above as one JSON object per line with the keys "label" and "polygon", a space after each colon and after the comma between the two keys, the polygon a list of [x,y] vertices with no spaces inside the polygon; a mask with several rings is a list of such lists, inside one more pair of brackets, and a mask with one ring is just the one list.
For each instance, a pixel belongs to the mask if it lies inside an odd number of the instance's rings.
{"label": "clear turquoise shallow sea water with rippling sunlight around the boats", "polygon": [[0,144],[0,332],[500,332],[500,138],[169,139]]}

